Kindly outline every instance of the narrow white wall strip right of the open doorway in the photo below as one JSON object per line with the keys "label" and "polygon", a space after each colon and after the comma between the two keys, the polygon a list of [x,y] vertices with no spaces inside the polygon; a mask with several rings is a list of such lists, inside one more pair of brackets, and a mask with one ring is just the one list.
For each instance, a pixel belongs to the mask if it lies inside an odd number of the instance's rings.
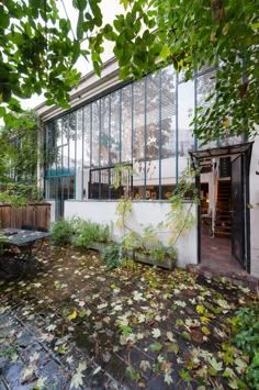
{"label": "narrow white wall strip right of the open doorway", "polygon": [[255,140],[250,163],[250,245],[251,275],[259,278],[259,136]]}

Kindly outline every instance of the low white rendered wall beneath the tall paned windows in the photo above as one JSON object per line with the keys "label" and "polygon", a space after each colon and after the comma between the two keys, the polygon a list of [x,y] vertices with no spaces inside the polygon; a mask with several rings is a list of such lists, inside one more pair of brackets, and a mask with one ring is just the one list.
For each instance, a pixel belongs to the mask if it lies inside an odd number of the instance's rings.
{"label": "low white rendered wall beneath the tall paned windows", "polygon": [[[113,229],[113,236],[120,241],[124,234],[123,230],[115,229],[116,201],[74,201],[67,200],[65,202],[65,218],[80,216],[85,220],[91,220],[102,224],[109,224]],[[168,202],[154,201],[134,201],[133,210],[127,215],[126,225],[138,232],[142,232],[144,226],[151,224],[156,227],[159,222],[166,221],[166,214],[170,210]],[[185,204],[187,210],[190,203]],[[195,207],[192,207],[191,212],[195,213]],[[170,231],[166,229],[158,229],[159,238],[165,245],[168,245]],[[198,235],[196,226],[180,235],[176,244],[178,250],[178,267],[184,267],[187,264],[198,264]]]}

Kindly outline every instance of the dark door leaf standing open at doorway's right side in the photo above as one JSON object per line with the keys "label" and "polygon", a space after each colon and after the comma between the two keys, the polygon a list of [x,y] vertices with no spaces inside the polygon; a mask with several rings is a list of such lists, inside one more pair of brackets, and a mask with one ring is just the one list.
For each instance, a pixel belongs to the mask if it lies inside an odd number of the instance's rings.
{"label": "dark door leaf standing open at doorway's right side", "polygon": [[244,156],[232,161],[232,254],[245,266]]}

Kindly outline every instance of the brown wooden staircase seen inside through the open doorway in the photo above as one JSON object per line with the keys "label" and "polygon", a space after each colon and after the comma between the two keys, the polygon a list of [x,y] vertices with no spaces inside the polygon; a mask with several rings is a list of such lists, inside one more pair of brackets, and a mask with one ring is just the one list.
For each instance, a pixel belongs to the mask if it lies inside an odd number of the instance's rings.
{"label": "brown wooden staircase seen inside through the open doorway", "polygon": [[217,203],[215,219],[215,236],[230,237],[232,235],[232,182],[230,180],[218,180]]}

